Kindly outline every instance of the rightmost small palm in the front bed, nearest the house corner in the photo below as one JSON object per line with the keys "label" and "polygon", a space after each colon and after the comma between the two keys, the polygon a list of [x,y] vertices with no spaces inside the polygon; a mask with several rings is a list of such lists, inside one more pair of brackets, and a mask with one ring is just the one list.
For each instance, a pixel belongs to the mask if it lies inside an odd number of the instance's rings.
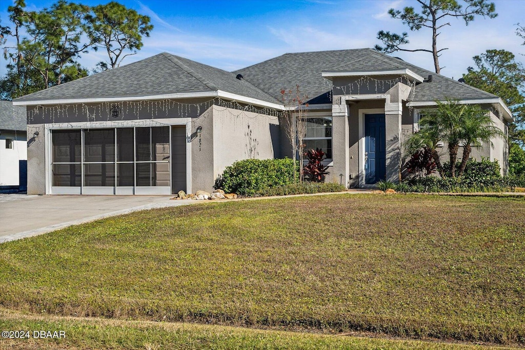
{"label": "rightmost small palm in the front bed, nearest the house corner", "polygon": [[501,137],[505,139],[503,133],[490,118],[490,113],[482,110],[479,105],[470,105],[470,108],[465,111],[463,115],[463,135],[461,139],[465,144],[463,148],[463,158],[461,158],[461,165],[459,167],[458,177],[463,175],[465,167],[467,166],[468,158],[472,152],[472,146],[481,146],[481,144],[492,144],[491,139]]}

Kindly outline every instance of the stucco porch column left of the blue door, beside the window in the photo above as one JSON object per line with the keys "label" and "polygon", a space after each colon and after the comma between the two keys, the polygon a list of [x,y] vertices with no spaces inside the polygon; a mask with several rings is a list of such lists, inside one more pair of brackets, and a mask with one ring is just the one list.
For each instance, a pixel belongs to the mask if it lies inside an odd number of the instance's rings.
{"label": "stucco porch column left of the blue door, beside the window", "polygon": [[[332,157],[333,167],[331,177],[337,182],[349,187],[349,131],[348,131],[348,105],[332,105]],[[342,174],[342,177],[341,177]]]}

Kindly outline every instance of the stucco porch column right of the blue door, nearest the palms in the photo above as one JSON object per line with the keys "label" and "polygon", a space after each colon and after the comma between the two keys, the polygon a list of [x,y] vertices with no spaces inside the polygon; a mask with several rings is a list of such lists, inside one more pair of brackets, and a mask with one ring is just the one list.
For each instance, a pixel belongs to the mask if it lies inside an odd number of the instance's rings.
{"label": "stucco porch column right of the blue door, nearest the palms", "polygon": [[401,116],[403,104],[385,103],[386,181],[399,183],[401,174]]}

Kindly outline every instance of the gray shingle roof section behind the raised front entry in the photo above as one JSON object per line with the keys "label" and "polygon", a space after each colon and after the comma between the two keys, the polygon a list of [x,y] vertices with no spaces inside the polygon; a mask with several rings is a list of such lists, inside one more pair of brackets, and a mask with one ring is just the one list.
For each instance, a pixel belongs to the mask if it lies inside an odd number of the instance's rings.
{"label": "gray shingle roof section behind the raised front entry", "polygon": [[381,54],[373,49],[313,51],[284,54],[256,65],[239,69],[255,86],[279,99],[282,89],[295,88],[312,100],[310,103],[331,103],[330,82],[321,76],[323,71],[379,71],[409,69],[419,76],[432,75],[432,82],[418,84],[411,101],[435,101],[446,97],[458,99],[487,99],[497,96],[419,68],[401,59]]}

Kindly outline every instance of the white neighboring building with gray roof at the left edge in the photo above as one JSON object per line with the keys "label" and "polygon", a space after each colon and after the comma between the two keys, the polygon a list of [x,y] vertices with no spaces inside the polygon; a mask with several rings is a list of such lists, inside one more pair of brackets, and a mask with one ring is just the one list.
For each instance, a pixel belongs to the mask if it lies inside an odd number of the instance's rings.
{"label": "white neighboring building with gray roof at the left edge", "polygon": [[26,190],[26,109],[0,101],[0,193]]}

